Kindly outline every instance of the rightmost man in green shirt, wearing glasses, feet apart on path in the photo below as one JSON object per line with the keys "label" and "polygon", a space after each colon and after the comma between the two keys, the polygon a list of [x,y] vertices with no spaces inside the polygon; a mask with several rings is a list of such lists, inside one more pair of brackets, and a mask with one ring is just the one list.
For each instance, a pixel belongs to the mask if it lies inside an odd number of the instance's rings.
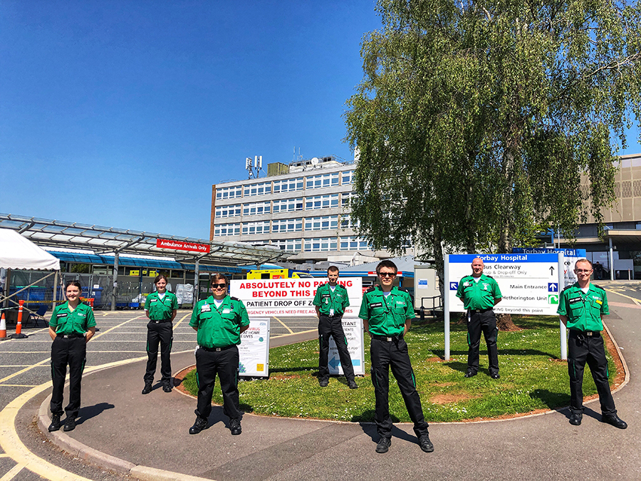
{"label": "rightmost man in green shirt, wearing glasses, feet apart on path", "polygon": [[608,359],[603,347],[603,316],[610,314],[605,291],[590,284],[592,263],[579,259],[574,264],[577,282],[561,291],[558,317],[566,325],[568,335],[568,374],[570,375],[570,424],[578,426],[583,419],[583,368],[590,366],[599,393],[601,419],[615,428],[625,429],[627,423],[617,416],[608,383]]}

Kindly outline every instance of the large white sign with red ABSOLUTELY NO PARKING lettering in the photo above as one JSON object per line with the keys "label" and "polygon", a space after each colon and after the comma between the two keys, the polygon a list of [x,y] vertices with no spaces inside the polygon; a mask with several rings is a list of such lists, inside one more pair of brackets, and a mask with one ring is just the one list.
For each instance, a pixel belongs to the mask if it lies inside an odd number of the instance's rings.
{"label": "large white sign with red ABSOLUTELY NO PARKING lettering", "polygon": [[[230,294],[241,299],[249,316],[315,316],[312,301],[316,289],[327,279],[233,279]],[[350,306],[345,316],[358,317],[360,302],[363,300],[363,279],[360,277],[339,277],[348,291]]]}

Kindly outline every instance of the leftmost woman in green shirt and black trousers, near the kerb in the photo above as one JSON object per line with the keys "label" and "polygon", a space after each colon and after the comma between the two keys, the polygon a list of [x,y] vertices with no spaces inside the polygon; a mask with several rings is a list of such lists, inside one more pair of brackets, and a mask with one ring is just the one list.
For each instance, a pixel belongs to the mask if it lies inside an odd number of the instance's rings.
{"label": "leftmost woman in green shirt and black trousers, near the kerb", "polygon": [[[53,309],[49,320],[51,344],[51,425],[49,431],[60,429],[60,417],[67,414],[66,431],[75,428],[75,418],[80,409],[80,381],[83,378],[87,343],[95,334],[93,309],[80,303],[82,286],[78,281],[68,281],[65,286],[67,301]],[[69,366],[69,404],[63,411],[63,391]]]}

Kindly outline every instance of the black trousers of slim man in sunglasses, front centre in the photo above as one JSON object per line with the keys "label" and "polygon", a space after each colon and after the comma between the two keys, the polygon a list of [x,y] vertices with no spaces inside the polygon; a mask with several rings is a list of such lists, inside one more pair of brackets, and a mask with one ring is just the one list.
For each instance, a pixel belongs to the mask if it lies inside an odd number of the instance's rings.
{"label": "black trousers of slim man in sunglasses, front centre", "polygon": [[423,417],[423,408],[419,394],[416,391],[416,378],[412,371],[407,343],[404,339],[391,342],[382,339],[372,339],[370,343],[370,358],[372,361],[372,384],[376,407],[374,420],[376,430],[382,438],[392,435],[392,418],[390,417],[390,368],[396,378],[398,388],[405,400],[407,413],[414,423],[414,432],[419,438],[427,434],[427,422]]}

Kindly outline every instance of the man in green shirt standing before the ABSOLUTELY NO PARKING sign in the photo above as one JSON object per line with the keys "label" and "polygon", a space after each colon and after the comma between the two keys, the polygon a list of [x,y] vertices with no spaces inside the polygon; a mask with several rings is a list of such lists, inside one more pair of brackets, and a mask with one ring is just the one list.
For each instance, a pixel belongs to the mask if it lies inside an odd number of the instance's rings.
{"label": "man in green shirt standing before the ABSOLUTELY NO PARKING sign", "polygon": [[329,355],[329,338],[332,336],[338,349],[340,366],[348,381],[350,389],[358,388],[354,380],[352,358],[347,347],[347,338],[343,332],[343,314],[345,307],[350,305],[350,298],[345,287],[338,284],[338,267],[330,266],[327,269],[328,283],[318,286],[314,295],[313,304],[316,306],[318,316],[318,383],[321,388],[329,383],[329,369],[327,359]]}

